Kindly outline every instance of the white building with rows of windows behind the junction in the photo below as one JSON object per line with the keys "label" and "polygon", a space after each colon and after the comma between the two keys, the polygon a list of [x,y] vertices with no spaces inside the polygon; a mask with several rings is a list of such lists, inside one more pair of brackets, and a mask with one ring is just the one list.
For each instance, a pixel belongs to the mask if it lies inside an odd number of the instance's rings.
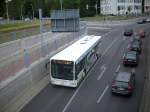
{"label": "white building with rows of windows behind the junction", "polygon": [[104,15],[141,14],[142,0],[101,0]]}

